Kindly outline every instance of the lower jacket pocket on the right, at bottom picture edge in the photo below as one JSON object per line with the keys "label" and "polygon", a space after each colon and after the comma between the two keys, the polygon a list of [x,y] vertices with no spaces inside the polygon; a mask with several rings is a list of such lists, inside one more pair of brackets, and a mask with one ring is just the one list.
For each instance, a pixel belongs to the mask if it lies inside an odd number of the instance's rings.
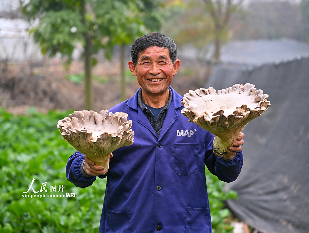
{"label": "lower jacket pocket on the right, at bottom picture edge", "polygon": [[187,208],[186,233],[211,233],[210,209]]}

